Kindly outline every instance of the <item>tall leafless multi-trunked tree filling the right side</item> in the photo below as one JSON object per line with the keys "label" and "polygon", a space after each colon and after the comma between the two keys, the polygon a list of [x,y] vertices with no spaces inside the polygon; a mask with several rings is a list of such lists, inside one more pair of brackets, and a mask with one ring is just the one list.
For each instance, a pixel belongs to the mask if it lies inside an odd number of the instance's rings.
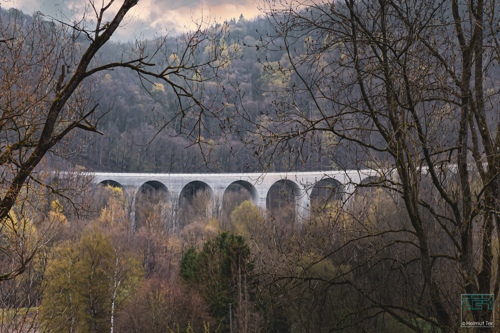
{"label": "tall leafless multi-trunked tree filling the right side", "polygon": [[[497,6],[265,2],[274,33],[256,46],[285,51],[260,59],[280,84],[258,121],[235,100],[227,130],[264,169],[278,154],[305,162],[312,147],[339,169],[378,173],[302,233],[272,230],[261,288],[304,330],[459,332],[460,294],[496,299]],[[363,188],[378,190],[363,199]],[[468,315],[491,321],[493,310]]]}

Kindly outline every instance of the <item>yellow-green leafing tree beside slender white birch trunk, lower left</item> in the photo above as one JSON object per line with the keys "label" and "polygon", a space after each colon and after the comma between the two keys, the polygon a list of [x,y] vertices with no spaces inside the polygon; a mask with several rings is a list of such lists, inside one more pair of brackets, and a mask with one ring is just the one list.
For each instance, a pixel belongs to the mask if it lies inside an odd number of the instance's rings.
{"label": "yellow-green leafing tree beside slender white birch trunk, lower left", "polygon": [[50,297],[43,301],[46,328],[81,333],[109,330],[112,310],[116,312],[137,284],[137,262],[113,246],[96,226],[87,228],[76,244],[57,244],[53,256],[46,274]]}

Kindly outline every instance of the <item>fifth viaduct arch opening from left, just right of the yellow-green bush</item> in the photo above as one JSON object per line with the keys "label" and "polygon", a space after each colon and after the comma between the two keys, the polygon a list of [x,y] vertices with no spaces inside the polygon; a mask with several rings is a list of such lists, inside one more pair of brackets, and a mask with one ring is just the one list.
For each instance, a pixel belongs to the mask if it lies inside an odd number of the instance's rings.
{"label": "fifth viaduct arch opening from left, just right of the yellow-green bush", "polygon": [[265,197],[265,206],[272,216],[283,221],[295,221],[297,200],[302,195],[298,185],[288,179],[281,179],[271,185]]}

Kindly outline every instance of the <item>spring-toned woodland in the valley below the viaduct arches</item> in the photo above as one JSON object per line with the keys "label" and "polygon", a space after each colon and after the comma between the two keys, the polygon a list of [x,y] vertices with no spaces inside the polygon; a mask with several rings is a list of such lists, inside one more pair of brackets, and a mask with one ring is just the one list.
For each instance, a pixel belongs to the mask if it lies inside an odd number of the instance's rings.
{"label": "spring-toned woodland in the valley below the viaduct arches", "polygon": [[[279,187],[275,192],[281,195]],[[51,203],[45,219],[56,221],[59,232],[30,274],[15,281],[14,293],[19,298],[44,296],[32,299],[29,320],[25,307],[11,310],[11,321],[19,328],[208,333],[231,332],[232,327],[232,332],[293,332],[320,325],[322,316],[342,313],[324,309],[307,323],[297,322],[296,305],[274,298],[274,288],[258,278],[257,262],[279,260],[274,252],[279,246],[270,245],[270,239],[279,235],[280,242],[292,241],[302,228],[308,230],[288,222],[295,220],[290,200],[281,199],[271,214],[236,187],[217,210],[208,192],[195,193],[182,205],[162,191],[144,188],[132,199],[137,221],[131,231],[131,199],[126,192],[99,184],[92,196],[93,213],[83,221],[66,216],[58,202]],[[314,201],[315,209],[324,205],[322,200]],[[328,203],[336,205],[334,200]],[[313,229],[327,228],[321,226],[324,220],[327,215],[317,215]],[[332,264],[325,269],[329,276],[338,268]],[[395,323],[388,325],[392,332],[400,332]]]}

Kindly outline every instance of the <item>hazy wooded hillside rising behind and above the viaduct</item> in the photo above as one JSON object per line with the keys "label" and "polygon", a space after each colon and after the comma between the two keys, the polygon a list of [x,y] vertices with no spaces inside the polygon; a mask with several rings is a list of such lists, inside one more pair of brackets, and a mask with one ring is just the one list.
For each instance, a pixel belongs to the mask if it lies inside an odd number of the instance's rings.
{"label": "hazy wooded hillside rising behind and above the viaduct", "polygon": [[[286,49],[281,44],[282,37],[273,37],[272,43],[269,42],[269,35],[274,27],[268,19],[257,17],[247,20],[242,13],[239,18],[213,26],[215,30],[224,29],[228,32],[220,43],[227,51],[232,51],[233,56],[227,66],[219,69],[217,77],[205,82],[204,86],[208,93],[216,90],[210,90],[210,87],[215,88],[217,84],[216,88],[222,87],[212,98],[215,107],[225,108],[224,112],[228,116],[237,110],[244,114],[242,118],[252,122],[251,125],[242,126],[251,133],[246,137],[248,131],[243,130],[246,133],[242,137],[244,142],[252,139],[252,135],[258,135],[258,130],[254,130],[256,125],[270,123],[269,112],[282,111],[280,103],[286,103],[287,99],[297,102],[297,97],[293,94],[281,99],[292,91],[291,82],[297,87],[301,86],[297,73],[302,69],[298,68],[297,72],[291,68]],[[298,35],[293,38],[298,38]],[[171,36],[168,40],[172,53],[163,56],[175,57],[175,45],[179,41],[176,36]],[[299,60],[300,54],[307,54],[315,42],[322,45],[320,41],[307,38],[302,43],[295,42],[290,49],[290,56]],[[153,45],[154,41],[149,43]],[[132,49],[136,47],[132,41],[108,42],[96,58],[97,61],[121,61],[131,56]],[[207,47],[201,45],[198,51],[205,55],[208,53]],[[147,49],[146,47],[146,51]],[[341,51],[333,51],[321,56],[320,66],[329,66],[345,55]],[[156,55],[153,59],[155,67],[161,66],[161,56]],[[484,83],[486,87],[494,85],[496,77],[500,77],[498,70],[498,67],[490,68],[489,79]],[[320,67],[316,71],[320,72]],[[342,75],[348,76],[347,73]],[[73,163],[57,160],[59,169],[80,166],[94,171],[114,172],[260,172],[264,164],[268,171],[312,171],[364,168],[363,164],[370,165],[371,162],[360,161],[383,159],[384,156],[380,152],[372,152],[375,155],[371,157],[365,156],[364,152],[349,144],[348,140],[332,135],[327,128],[320,128],[314,131],[314,140],[295,149],[289,143],[288,146],[276,145],[276,151],[280,153],[273,154],[271,162],[254,156],[255,150],[249,147],[251,145],[245,147],[242,144],[239,136],[241,133],[229,133],[231,131],[227,128],[221,130],[222,117],[212,114],[202,117],[203,123],[199,129],[206,144],[191,146],[192,137],[186,137],[192,134],[189,133],[190,129],[197,128],[192,123],[193,119],[180,117],[177,113],[178,100],[173,91],[163,83],[141,79],[127,68],[102,72],[99,80],[98,90],[94,92],[93,98],[104,114],[98,125],[98,130],[104,135],[83,132],[81,139],[74,140],[69,149],[77,151],[77,154],[66,156]],[[329,84],[328,80],[324,84]],[[337,92],[332,91],[332,94],[335,93]],[[357,93],[357,88],[353,87],[351,93]],[[304,118],[321,117],[316,101],[307,97],[299,99],[300,112]],[[332,105],[322,107],[330,112],[337,108]],[[486,121],[492,124],[493,116],[486,117]],[[275,130],[279,131],[279,128]],[[451,135],[448,139],[454,136],[453,133]],[[384,145],[382,137],[376,131],[370,134],[369,140]],[[82,149],[76,149],[78,147]],[[206,154],[204,158],[202,152]]]}

